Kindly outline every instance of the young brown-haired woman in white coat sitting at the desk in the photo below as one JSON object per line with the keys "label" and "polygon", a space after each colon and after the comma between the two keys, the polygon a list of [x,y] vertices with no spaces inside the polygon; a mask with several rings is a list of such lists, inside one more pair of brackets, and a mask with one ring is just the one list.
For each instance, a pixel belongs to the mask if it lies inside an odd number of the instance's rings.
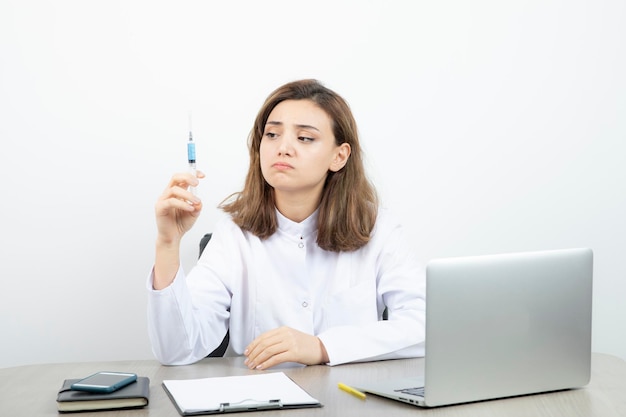
{"label": "young brown-haired woman in white coat sitting at the desk", "polygon": [[[346,101],[316,80],[279,87],[249,137],[243,191],[222,203],[198,264],[180,241],[202,210],[175,174],[156,203],[149,334],[164,364],[226,355],[251,369],[424,354],[424,271],[364,172]],[[382,319],[387,309],[388,320]]]}

